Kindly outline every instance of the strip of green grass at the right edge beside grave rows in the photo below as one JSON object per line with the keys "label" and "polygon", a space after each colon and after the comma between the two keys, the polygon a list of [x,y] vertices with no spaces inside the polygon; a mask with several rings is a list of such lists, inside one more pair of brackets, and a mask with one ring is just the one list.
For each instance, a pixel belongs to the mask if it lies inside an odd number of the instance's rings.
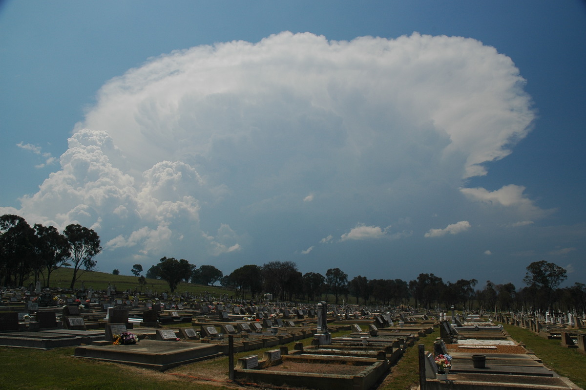
{"label": "strip of green grass at the right edge beside grave rows", "polygon": [[562,377],[570,378],[570,381],[581,388],[586,388],[585,354],[575,348],[562,347],[560,340],[548,340],[515,325],[503,326],[513,340],[523,342],[527,348],[533,350],[547,368],[553,369]]}

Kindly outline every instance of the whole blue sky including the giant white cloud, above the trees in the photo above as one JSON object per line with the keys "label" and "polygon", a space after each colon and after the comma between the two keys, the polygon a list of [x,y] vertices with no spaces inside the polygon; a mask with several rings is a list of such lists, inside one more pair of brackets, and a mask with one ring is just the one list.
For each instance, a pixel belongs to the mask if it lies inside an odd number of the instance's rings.
{"label": "whole blue sky including the giant white cloud, above the trees", "polygon": [[584,283],[584,69],[581,1],[5,1],[0,212],[104,272]]}

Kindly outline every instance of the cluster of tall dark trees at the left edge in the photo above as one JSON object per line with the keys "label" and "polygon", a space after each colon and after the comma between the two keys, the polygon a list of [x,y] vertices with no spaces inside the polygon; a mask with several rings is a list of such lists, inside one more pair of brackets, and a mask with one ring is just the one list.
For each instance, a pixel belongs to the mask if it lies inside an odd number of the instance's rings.
{"label": "cluster of tall dark trees at the left edge", "polygon": [[51,273],[62,266],[73,267],[70,288],[81,274],[96,267],[94,257],[102,250],[93,229],[78,223],[60,233],[54,226],[30,226],[18,215],[0,216],[0,282],[22,286],[29,277],[43,278],[49,286]]}

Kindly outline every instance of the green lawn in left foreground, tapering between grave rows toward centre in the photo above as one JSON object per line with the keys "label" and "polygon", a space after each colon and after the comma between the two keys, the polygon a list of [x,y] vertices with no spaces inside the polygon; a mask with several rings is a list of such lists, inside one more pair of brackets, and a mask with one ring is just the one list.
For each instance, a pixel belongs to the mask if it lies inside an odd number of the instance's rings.
{"label": "green lawn in left foreground, tapering between grave rows toward centre", "polygon": [[[340,337],[349,333],[333,333]],[[311,338],[301,341],[311,344]],[[295,342],[287,344],[292,349]],[[240,352],[234,355],[236,363],[240,357],[258,354],[278,347],[262,348],[256,351]],[[150,369],[132,367],[73,357],[74,348],[57,348],[49,351],[29,348],[0,347],[0,388],[9,389],[132,389],[176,390],[189,389],[228,389],[234,384],[222,386],[216,384],[193,383],[190,377],[199,377],[200,372],[216,372],[220,377],[228,378],[228,357],[213,358],[183,365],[165,373]],[[179,374],[179,375],[177,375]]]}

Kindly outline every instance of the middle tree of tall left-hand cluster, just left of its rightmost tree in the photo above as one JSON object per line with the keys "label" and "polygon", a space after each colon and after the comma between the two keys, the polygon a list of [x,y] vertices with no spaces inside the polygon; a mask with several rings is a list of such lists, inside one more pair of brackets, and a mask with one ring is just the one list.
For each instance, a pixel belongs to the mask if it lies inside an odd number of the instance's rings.
{"label": "middle tree of tall left-hand cluster, just left of its rightmost tree", "polygon": [[[50,286],[51,273],[67,264],[67,259],[71,256],[69,252],[69,242],[67,238],[59,233],[59,230],[54,226],[43,226],[40,223],[35,223],[35,233],[38,237],[36,242],[37,257],[39,262],[39,270],[43,273],[47,272],[47,279],[45,286]],[[35,277],[35,282],[37,277]]]}

